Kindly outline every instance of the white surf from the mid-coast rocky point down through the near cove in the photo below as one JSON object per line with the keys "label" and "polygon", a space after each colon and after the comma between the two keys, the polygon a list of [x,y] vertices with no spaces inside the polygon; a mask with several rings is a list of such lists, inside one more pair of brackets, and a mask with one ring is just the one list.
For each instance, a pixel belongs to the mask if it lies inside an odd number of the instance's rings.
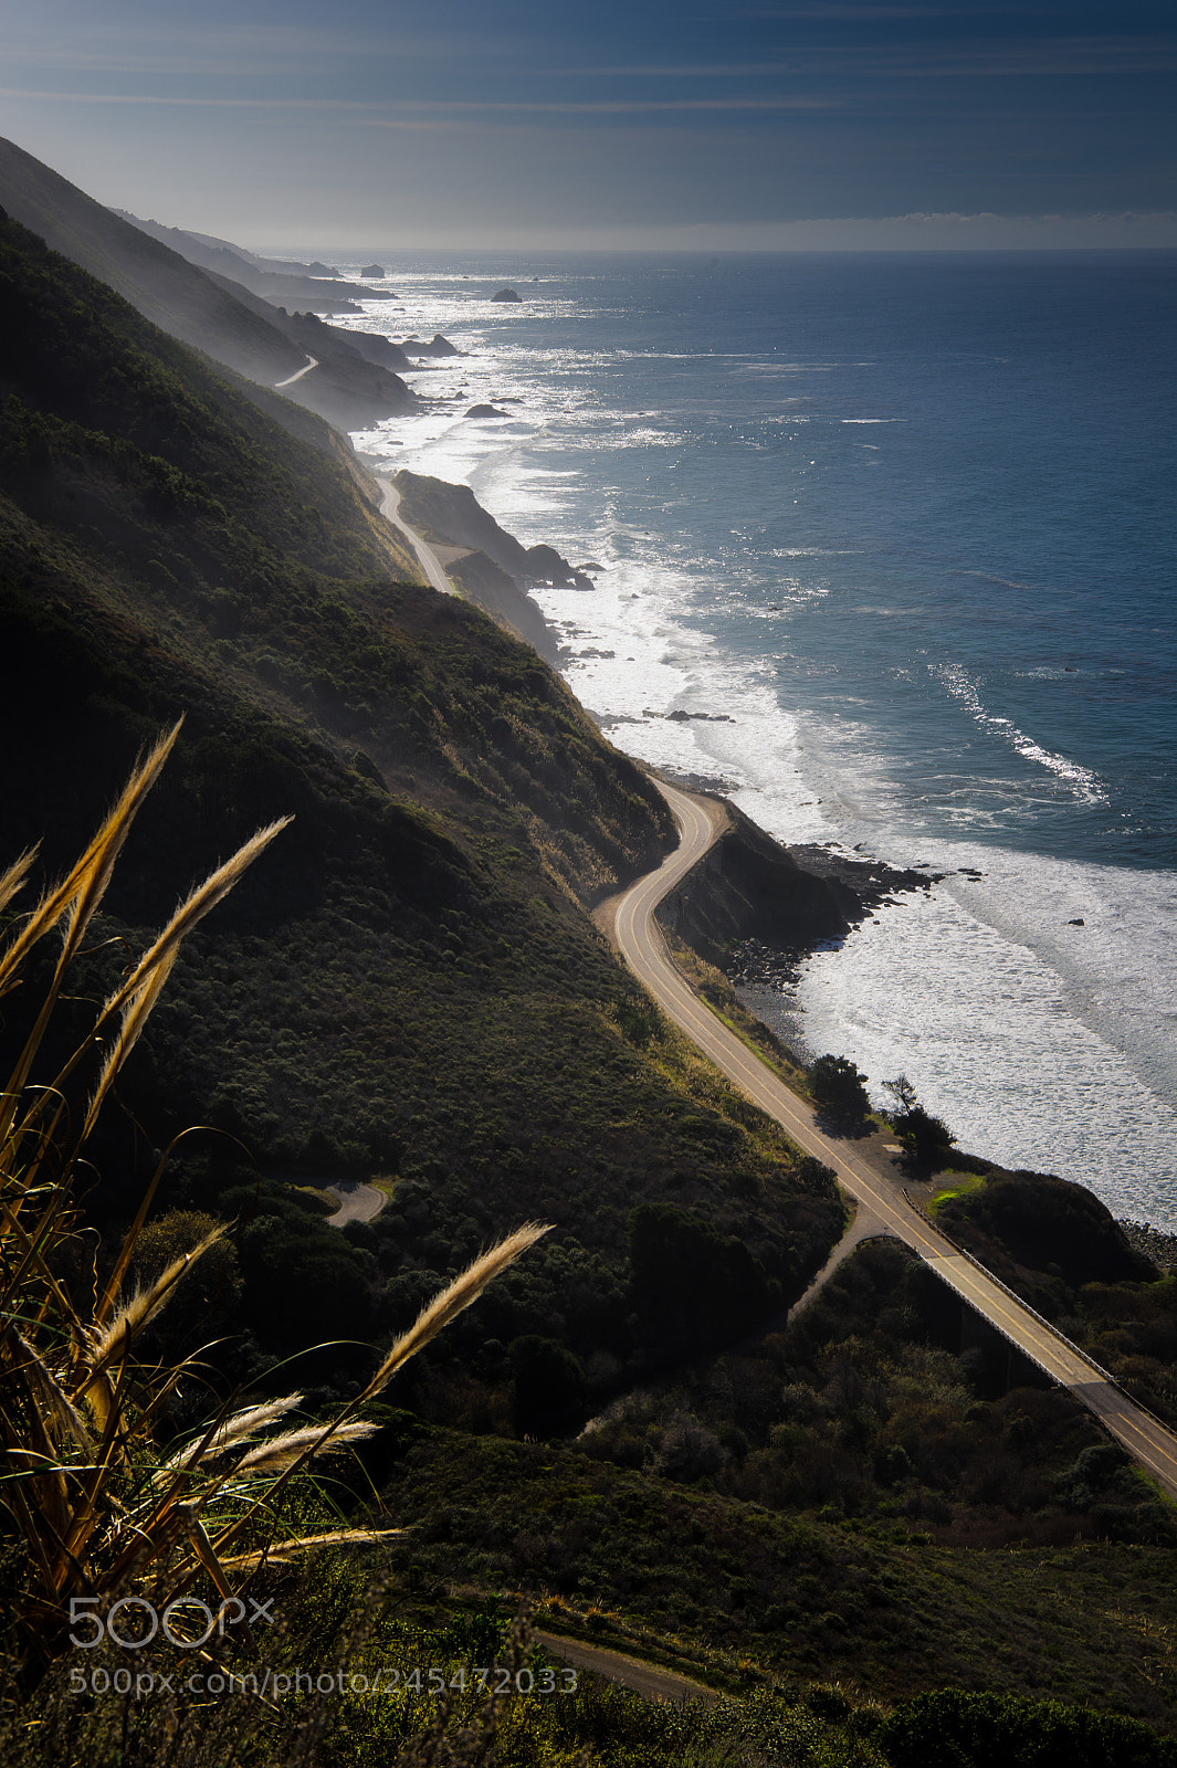
{"label": "white surf from the mid-coast rocky point down through the near cove", "polygon": [[[907,1073],[961,1146],[1080,1177],[1117,1215],[1177,1229],[1173,873],[915,838],[885,776],[841,771],[767,681],[732,681],[705,635],[677,629],[661,598],[650,622],[650,598],[626,582],[619,571],[594,596],[592,624],[574,605],[581,656],[566,668],[620,748],[723,781],[778,840],[947,873],[804,962],[808,1050],[852,1055],[878,1103],[882,1080]],[[566,592],[535,599],[567,621]],[[615,656],[583,658],[592,649]],[[647,707],[663,716],[642,718]],[[718,707],[733,721],[716,721]],[[675,709],[710,716],[670,721]]]}

